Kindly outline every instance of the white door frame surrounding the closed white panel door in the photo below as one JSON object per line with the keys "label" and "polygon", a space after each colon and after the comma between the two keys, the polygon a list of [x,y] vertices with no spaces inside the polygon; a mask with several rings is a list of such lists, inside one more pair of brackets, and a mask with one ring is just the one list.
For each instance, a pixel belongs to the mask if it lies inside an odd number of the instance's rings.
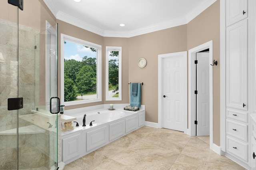
{"label": "white door frame surrounding the closed white panel door", "polygon": [[[160,54],[158,55],[158,128],[163,128],[163,123],[162,123],[162,117],[163,117],[163,113],[162,113],[162,60],[164,58],[167,58],[167,57],[170,57],[170,55],[182,55],[182,57],[184,57],[186,63],[186,65],[188,65],[188,57],[187,57],[187,51],[181,51],[181,52],[176,52],[176,53],[167,53],[167,54]],[[186,67],[186,77],[188,76],[187,75],[187,67]],[[188,84],[188,82],[186,81],[185,82],[186,84]],[[185,91],[185,96],[186,96],[186,99],[185,101],[187,101],[187,96],[188,96],[188,93],[187,93],[187,89]],[[185,104],[186,108],[185,110],[187,110],[188,108],[188,103]],[[187,133],[186,130],[186,125],[187,125],[187,122],[188,122],[188,115],[187,115],[187,112],[184,113],[184,133]]]}

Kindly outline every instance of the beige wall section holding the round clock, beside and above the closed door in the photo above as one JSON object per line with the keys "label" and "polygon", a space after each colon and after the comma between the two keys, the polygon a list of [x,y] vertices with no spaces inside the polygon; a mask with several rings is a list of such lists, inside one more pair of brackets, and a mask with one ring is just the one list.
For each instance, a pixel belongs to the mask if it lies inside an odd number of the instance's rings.
{"label": "beige wall section holding the round clock, beside and above the closed door", "polygon": [[[187,51],[187,26],[177,26],[129,38],[128,82],[144,83],[142,105],[146,107],[146,121],[158,123],[158,55]],[[147,65],[138,67],[138,59]]]}

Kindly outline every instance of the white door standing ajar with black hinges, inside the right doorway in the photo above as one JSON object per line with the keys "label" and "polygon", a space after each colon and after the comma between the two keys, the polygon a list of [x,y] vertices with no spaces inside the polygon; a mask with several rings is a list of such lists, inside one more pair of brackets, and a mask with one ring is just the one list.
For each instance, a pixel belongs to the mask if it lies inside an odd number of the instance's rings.
{"label": "white door standing ajar with black hinges, inside the right doorway", "polygon": [[209,91],[209,53],[196,53],[197,64],[197,136],[210,135],[210,91]]}

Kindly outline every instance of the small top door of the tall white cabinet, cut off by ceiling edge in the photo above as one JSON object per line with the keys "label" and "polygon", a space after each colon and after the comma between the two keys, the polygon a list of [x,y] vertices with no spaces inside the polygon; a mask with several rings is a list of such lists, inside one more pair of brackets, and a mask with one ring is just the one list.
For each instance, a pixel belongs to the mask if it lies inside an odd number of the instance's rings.
{"label": "small top door of the tall white cabinet, cut off by ceiling edge", "polygon": [[230,26],[248,16],[248,0],[226,0],[226,24]]}

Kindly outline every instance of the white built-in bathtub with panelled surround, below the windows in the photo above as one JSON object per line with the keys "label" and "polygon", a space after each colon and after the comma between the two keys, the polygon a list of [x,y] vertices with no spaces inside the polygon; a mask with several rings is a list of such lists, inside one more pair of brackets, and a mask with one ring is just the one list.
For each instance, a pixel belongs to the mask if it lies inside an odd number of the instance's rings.
{"label": "white built-in bathtub with panelled surround, below the windows", "polygon": [[[86,126],[83,118],[86,114]],[[62,161],[68,164],[94,150],[133,132],[145,125],[145,110],[124,111],[121,109],[97,109],[69,116],[76,117],[79,127],[72,123],[73,130],[61,132]],[[90,122],[92,126],[90,126]]]}

